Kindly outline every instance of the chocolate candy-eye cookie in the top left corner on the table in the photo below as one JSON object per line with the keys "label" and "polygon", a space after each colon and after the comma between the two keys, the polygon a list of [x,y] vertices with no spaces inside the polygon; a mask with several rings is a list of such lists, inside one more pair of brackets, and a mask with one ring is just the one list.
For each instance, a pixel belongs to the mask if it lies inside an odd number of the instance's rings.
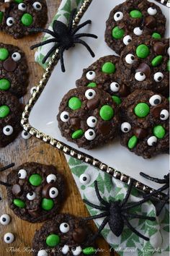
{"label": "chocolate candy-eye cookie in the top left corner on the table", "polygon": [[0,30],[12,35],[15,39],[30,34],[30,29],[44,27],[47,20],[45,0],[14,0],[9,3],[1,1]]}

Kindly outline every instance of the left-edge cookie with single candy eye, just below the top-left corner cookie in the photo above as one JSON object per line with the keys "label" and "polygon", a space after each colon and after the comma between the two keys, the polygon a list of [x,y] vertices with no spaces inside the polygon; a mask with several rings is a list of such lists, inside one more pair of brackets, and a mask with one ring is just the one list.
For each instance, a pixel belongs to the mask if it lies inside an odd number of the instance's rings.
{"label": "left-edge cookie with single candy eye, just below the top-left corner cookie", "polygon": [[0,43],[0,90],[20,98],[27,93],[28,77],[24,52],[17,46]]}

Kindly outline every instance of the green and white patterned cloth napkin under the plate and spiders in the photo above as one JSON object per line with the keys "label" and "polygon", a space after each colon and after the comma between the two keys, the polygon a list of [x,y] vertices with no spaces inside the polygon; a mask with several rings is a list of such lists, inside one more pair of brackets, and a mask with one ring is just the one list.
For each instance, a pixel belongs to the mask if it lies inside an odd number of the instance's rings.
{"label": "green and white patterned cloth napkin under the plate and spiders", "polygon": [[[63,0],[58,12],[55,14],[53,20],[60,20],[62,22],[68,22],[68,17],[73,8],[78,8],[81,6],[83,0]],[[52,29],[51,22],[49,29]],[[47,40],[51,38],[50,35],[45,35],[42,40]],[[35,54],[35,61],[37,61],[43,68],[47,66],[42,64],[42,59],[53,46],[48,44],[47,46],[42,46],[38,48]],[[86,198],[90,202],[99,205],[99,201],[94,190],[94,181],[97,180],[99,184],[99,191],[105,200],[122,200],[128,189],[128,185],[112,179],[109,174],[105,174],[99,169],[87,165],[81,161],[78,161],[70,156],[66,155],[68,164],[71,168],[71,172],[76,181],[79,192],[82,198]],[[87,184],[82,184],[82,176],[86,174],[89,177],[89,182]],[[84,183],[84,182],[83,182]],[[130,196],[130,201],[137,202],[141,200],[142,197],[136,189],[133,189],[132,195]],[[100,213],[99,210],[87,207],[91,216]],[[146,202],[142,206],[133,209],[134,213],[147,216],[156,216],[156,211],[151,202]],[[104,218],[99,218],[95,220],[95,223],[99,227]],[[136,236],[127,226],[125,226],[124,231],[120,237],[115,236],[109,230],[109,226],[105,226],[102,231],[104,239],[110,244],[111,247],[117,251],[119,255],[138,255],[138,256],[150,256],[150,255],[169,255],[169,208],[168,206],[164,208],[161,212],[161,216],[156,218],[156,221],[143,221],[139,219],[133,219],[130,223],[140,231],[140,233],[145,236],[150,237],[150,241],[146,242]]]}

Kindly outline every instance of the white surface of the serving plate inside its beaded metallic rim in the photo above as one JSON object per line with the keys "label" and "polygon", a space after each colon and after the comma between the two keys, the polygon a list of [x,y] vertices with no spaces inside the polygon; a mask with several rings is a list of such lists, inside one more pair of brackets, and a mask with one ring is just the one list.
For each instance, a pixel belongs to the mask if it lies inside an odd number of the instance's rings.
{"label": "white surface of the serving plate inside its beaded metallic rim", "polygon": [[[81,153],[91,155],[93,158],[97,158],[99,161],[102,161],[102,163],[107,164],[107,166],[115,168],[116,170],[133,177],[139,182],[157,189],[159,187],[158,184],[154,184],[153,182],[143,179],[139,173],[140,171],[143,171],[151,176],[162,178],[169,170],[169,155],[158,155],[146,160],[122,147],[119,140],[114,141],[109,145],[104,145],[102,148],[84,150],[83,148],[78,148],[76,144],[68,142],[61,136],[61,132],[58,129],[58,122],[56,120],[58,106],[63,95],[65,95],[68,90],[76,87],[75,81],[81,77],[82,70],[85,67],[89,67],[92,62],[96,61],[100,57],[113,54],[113,51],[106,43],[104,43],[105,22],[109,17],[111,9],[123,1],[124,0],[92,1],[89,9],[86,10],[81,19],[81,22],[91,20],[92,23],[91,25],[81,29],[81,32],[94,33],[98,36],[97,40],[93,38],[85,38],[86,43],[88,43],[93,49],[95,58],[91,58],[90,54],[86,51],[86,48],[80,45],[76,45],[75,48],[65,51],[64,61],[66,65],[66,72],[61,72],[61,64],[60,61],[58,61],[58,64],[55,66],[45,89],[42,91],[40,98],[38,98],[35,106],[32,108],[29,122],[32,127],[45,133],[45,135],[50,135],[50,137],[81,151]],[[153,2],[158,4],[156,1]],[[167,18],[166,37],[168,37],[169,9],[161,4],[158,4],[158,6],[161,7],[162,12],[164,12]]]}

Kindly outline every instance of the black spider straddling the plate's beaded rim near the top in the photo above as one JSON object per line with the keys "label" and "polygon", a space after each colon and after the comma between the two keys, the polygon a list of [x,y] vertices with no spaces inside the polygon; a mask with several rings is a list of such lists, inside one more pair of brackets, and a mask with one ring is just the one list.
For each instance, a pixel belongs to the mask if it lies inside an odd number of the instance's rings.
{"label": "black spider straddling the plate's beaded rim near the top", "polygon": [[77,27],[73,28],[73,19],[75,15],[76,15],[76,9],[73,9],[70,15],[68,26],[66,26],[66,24],[64,24],[63,22],[55,20],[53,22],[53,31],[43,29],[43,28],[33,28],[30,30],[31,32],[45,32],[53,36],[52,39],[48,39],[42,43],[37,43],[34,46],[31,46],[31,49],[34,49],[39,46],[44,46],[45,44],[48,44],[48,43],[55,43],[55,46],[53,46],[53,48],[51,48],[50,51],[48,51],[48,54],[46,54],[46,56],[42,60],[43,64],[48,59],[50,54],[53,54],[53,52],[58,48],[59,56],[61,59],[61,69],[63,72],[65,72],[66,70],[63,62],[63,52],[65,50],[68,50],[72,46],[75,46],[75,43],[81,43],[83,46],[87,48],[91,56],[94,57],[94,52],[91,50],[88,44],[84,42],[84,40],[81,40],[79,38],[81,37],[97,38],[97,35],[89,34],[89,33],[76,34],[76,32],[80,30],[81,27],[84,27],[87,24],[91,24],[91,20],[86,20],[86,22],[83,22],[81,25],[78,25]]}

